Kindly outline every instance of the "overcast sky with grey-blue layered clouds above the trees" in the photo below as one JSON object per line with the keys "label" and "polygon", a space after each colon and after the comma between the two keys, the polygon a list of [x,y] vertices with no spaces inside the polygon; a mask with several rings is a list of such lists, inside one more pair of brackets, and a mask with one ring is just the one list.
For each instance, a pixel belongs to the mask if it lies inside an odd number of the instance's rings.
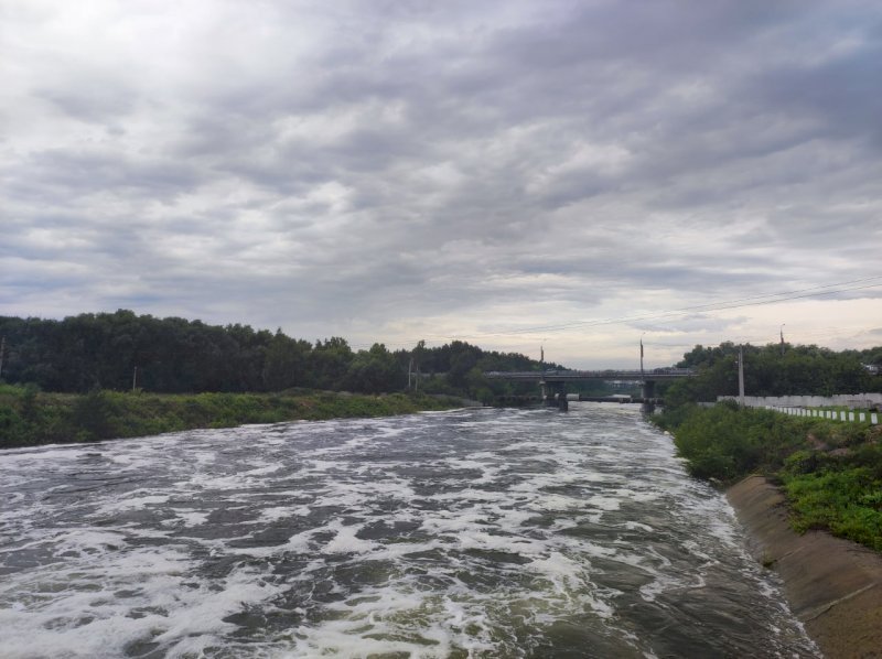
{"label": "overcast sky with grey-blue layered clouds above the trees", "polygon": [[0,0],[0,314],[882,345],[878,0]]}

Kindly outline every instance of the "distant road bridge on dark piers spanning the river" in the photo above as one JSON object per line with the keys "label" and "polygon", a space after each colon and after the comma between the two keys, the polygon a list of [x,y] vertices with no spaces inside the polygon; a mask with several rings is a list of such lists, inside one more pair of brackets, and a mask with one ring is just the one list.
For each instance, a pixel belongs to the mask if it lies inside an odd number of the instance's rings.
{"label": "distant road bridge on dark piers spanning the river", "polygon": [[695,371],[691,368],[654,368],[652,370],[491,370],[484,374],[484,377],[491,380],[536,382],[541,388],[542,400],[546,402],[546,404],[557,406],[561,410],[566,410],[568,408],[567,382],[578,382],[584,380],[619,380],[626,382],[641,382],[643,385],[643,402],[645,406],[650,407],[654,402],[656,402],[656,382],[691,378],[693,376]]}

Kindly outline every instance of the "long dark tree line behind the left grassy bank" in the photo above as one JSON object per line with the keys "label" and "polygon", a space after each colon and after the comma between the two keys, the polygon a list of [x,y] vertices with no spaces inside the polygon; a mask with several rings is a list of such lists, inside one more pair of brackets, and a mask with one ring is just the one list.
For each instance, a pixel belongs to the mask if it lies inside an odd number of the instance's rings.
{"label": "long dark tree line behind the left grassy bank", "polygon": [[420,342],[412,350],[398,352],[374,344],[356,352],[340,337],[313,344],[280,330],[220,327],[125,310],[62,321],[0,317],[0,336],[7,346],[3,379],[44,391],[129,390],[137,385],[154,392],[308,387],[379,393],[407,387],[412,359],[420,383],[434,380],[434,390],[486,397],[494,385],[484,381],[482,371],[539,368],[524,355],[486,352],[459,341],[434,348]]}

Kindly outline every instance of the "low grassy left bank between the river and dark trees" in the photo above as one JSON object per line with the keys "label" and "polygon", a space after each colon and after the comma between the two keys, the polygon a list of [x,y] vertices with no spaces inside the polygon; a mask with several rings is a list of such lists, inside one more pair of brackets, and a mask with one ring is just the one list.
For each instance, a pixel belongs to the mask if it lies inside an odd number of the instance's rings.
{"label": "low grassy left bank between the river and dark trees", "polygon": [[456,407],[455,399],[390,393],[45,393],[0,386],[0,449],[132,437],[193,428],[299,419],[389,417]]}

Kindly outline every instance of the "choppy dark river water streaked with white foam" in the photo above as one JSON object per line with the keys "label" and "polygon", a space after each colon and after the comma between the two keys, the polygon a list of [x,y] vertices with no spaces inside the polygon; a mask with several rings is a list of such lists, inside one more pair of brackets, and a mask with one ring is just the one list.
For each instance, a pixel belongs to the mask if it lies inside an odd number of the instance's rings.
{"label": "choppy dark river water streaked with white foam", "polygon": [[636,406],[0,454],[0,656],[817,657]]}

